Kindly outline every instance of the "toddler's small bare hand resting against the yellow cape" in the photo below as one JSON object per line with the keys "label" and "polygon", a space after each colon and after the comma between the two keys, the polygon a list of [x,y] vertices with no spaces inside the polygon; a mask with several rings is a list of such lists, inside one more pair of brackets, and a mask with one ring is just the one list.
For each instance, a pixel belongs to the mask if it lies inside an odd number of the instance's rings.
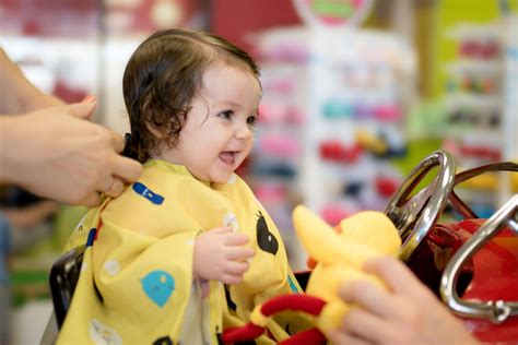
{"label": "toddler's small bare hand resting against the yellow cape", "polygon": [[248,236],[233,233],[229,226],[216,227],[199,235],[195,242],[196,278],[239,284],[249,269],[254,249],[245,247]]}

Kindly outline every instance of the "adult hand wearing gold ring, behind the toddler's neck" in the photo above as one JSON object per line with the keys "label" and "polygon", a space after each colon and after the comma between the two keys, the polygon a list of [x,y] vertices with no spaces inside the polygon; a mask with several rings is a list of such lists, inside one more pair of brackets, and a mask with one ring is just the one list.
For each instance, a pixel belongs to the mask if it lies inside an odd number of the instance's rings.
{"label": "adult hand wearing gold ring, behind the toddler's neck", "polygon": [[95,102],[0,117],[0,182],[69,204],[95,206],[117,197],[142,166],[118,153],[123,140],[87,121]]}

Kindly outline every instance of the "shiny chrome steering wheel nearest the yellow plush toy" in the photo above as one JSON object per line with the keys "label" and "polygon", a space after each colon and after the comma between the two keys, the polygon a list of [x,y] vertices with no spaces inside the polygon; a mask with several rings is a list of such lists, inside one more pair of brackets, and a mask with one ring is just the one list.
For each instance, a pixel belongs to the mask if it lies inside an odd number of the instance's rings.
{"label": "shiny chrome steering wheel nearest the yellow plush toy", "polygon": [[[434,181],[410,200],[407,200],[410,192],[437,165],[439,171]],[[403,238],[403,245],[399,252],[401,260],[410,260],[412,253],[444,210],[448,195],[454,188],[455,168],[455,160],[449,153],[443,150],[436,151],[424,158],[410,172],[390,199],[385,209],[385,214],[395,223]],[[412,226],[414,223],[415,225]]]}

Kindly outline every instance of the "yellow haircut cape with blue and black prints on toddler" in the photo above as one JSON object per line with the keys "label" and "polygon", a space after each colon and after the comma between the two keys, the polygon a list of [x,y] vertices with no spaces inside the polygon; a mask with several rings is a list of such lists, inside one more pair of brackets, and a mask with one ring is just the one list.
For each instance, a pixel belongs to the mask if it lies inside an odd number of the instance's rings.
{"label": "yellow haircut cape with blue and black prints on toddler", "polygon": [[[242,284],[210,282],[209,296],[201,298],[192,279],[196,236],[225,225],[248,235],[256,255]],[[256,305],[301,293],[279,230],[237,176],[210,186],[184,166],[150,160],[138,182],[85,215],[66,249],[84,245],[91,229],[93,245],[84,252],[58,344],[177,344],[191,332],[217,344],[223,329],[243,325]],[[186,330],[193,296],[204,321]],[[289,322],[294,331],[308,325],[294,314],[275,321],[270,332],[278,340],[287,336]]]}

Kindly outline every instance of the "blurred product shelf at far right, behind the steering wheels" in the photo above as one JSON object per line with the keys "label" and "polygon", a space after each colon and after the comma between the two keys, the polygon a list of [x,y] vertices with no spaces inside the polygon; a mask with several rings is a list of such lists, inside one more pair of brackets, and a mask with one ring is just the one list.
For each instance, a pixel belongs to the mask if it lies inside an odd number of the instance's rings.
{"label": "blurred product shelf at far right, behind the steering wheels", "polygon": [[[517,17],[501,9],[490,22],[458,22],[445,32],[456,49],[444,63],[443,145],[459,169],[514,160],[518,151]],[[481,217],[491,216],[518,192],[516,174],[485,174],[459,186]]]}

